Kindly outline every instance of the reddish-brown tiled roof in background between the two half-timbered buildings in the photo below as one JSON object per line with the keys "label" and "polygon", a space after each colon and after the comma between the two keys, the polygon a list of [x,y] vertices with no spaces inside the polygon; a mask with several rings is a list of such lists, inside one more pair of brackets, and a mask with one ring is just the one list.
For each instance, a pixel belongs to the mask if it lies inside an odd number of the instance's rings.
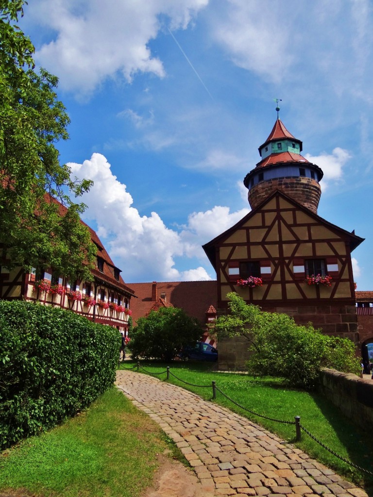
{"label": "reddish-brown tiled roof in background between the two half-timbered buildings", "polygon": [[[128,283],[137,299],[131,300],[132,319],[147,316],[161,294],[166,303],[184,309],[188,316],[206,322],[206,309],[216,307],[216,281],[161,281],[157,282],[156,301],[152,300],[153,283]],[[164,300],[164,299],[163,299]]]}

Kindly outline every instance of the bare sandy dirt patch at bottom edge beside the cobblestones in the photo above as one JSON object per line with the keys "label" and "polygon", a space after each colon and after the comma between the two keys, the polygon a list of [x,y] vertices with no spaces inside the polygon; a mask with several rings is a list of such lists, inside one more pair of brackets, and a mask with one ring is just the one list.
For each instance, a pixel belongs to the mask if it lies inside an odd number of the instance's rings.
{"label": "bare sandy dirt patch at bottom edge beside the cobblestones", "polygon": [[154,486],[143,497],[203,497],[201,484],[191,469],[163,454],[159,455],[159,464]]}

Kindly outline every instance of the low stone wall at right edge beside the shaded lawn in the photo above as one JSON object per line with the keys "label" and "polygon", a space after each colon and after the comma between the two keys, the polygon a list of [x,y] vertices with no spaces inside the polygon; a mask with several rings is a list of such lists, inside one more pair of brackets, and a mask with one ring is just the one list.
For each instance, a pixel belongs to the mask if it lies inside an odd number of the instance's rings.
{"label": "low stone wall at right edge beside the shaded lawn", "polygon": [[364,429],[373,426],[373,380],[324,368],[320,372],[320,391],[341,412]]}

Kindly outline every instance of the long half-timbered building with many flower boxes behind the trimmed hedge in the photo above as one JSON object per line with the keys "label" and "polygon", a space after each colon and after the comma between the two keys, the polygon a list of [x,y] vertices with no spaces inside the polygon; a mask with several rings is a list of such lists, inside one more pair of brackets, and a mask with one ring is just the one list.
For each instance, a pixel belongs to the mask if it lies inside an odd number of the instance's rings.
{"label": "long half-timbered building with many flower boxes behind the trimmed hedge", "polygon": [[97,248],[92,281],[69,281],[66,276],[43,266],[32,268],[30,273],[19,267],[8,270],[9,261],[4,255],[0,261],[0,299],[22,299],[61,307],[127,334],[134,291],[124,283],[120,269],[95,231],[89,226],[88,229]]}

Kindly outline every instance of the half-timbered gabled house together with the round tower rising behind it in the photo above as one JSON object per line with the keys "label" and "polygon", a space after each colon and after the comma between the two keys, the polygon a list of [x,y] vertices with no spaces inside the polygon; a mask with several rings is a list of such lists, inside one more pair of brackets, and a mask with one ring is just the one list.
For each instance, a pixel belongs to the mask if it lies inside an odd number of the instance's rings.
{"label": "half-timbered gabled house together with the round tower rising behind it", "polygon": [[[351,252],[363,239],[317,215],[320,167],[300,155],[302,142],[280,119],[244,179],[252,211],[203,246],[217,276],[217,311],[237,292],[264,311],[311,322],[360,343]],[[223,350],[222,350],[223,348]],[[241,347],[239,347],[241,348]],[[242,366],[219,342],[219,365]]]}

